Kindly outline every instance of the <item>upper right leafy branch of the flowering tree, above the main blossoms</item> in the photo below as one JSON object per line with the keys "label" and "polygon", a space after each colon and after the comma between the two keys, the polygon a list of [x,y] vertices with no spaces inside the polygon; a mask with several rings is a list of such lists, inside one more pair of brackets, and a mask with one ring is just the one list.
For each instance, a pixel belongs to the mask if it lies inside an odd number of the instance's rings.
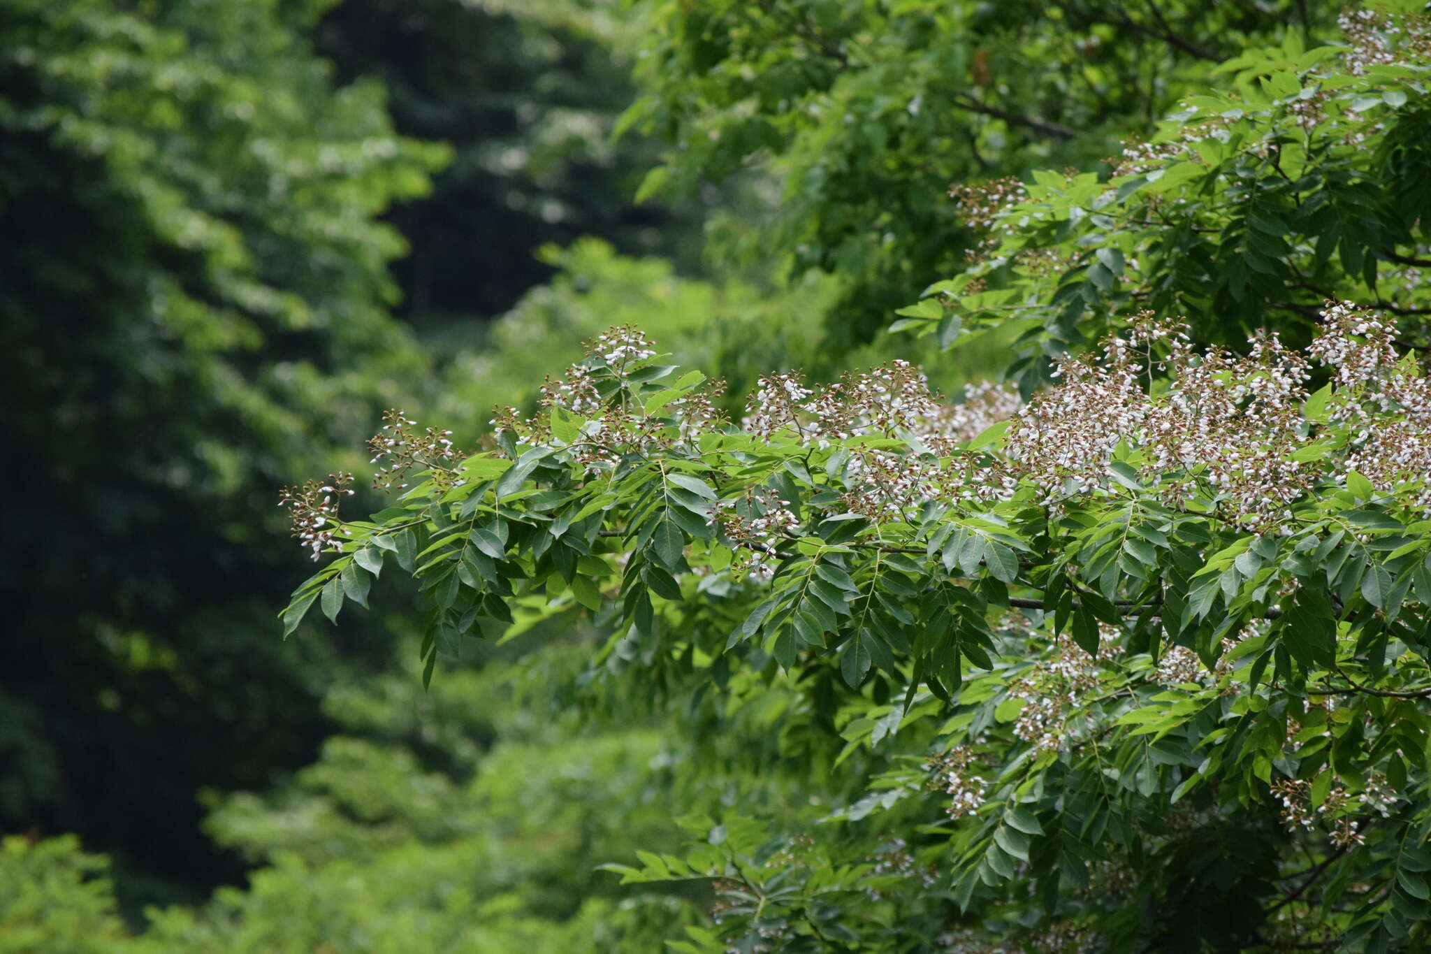
{"label": "upper right leafy branch of the flowering tree, above the main blossoms", "polygon": [[[1425,39],[1352,17],[1348,46],[1275,50],[1218,69],[1112,176],[1039,172],[962,193],[987,226],[973,267],[903,326],[940,343],[1023,326],[1025,390],[1047,356],[1079,350],[1136,309],[1188,316],[1202,342],[1255,328],[1307,342],[1324,300],[1357,300],[1424,330],[1418,247],[1431,242]],[[952,329],[952,330],[950,330]]]}

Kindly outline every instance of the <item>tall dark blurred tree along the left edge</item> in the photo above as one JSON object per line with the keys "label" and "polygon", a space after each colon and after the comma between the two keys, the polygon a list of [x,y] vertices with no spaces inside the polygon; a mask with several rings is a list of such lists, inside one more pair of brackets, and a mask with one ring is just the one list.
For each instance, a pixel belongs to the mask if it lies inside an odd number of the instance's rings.
{"label": "tall dark blurred tree along the left edge", "polygon": [[375,217],[444,150],[395,136],[376,86],[332,89],[302,39],[322,6],[0,14],[0,439],[26,501],[0,825],[77,831],[165,890],[238,874],[196,791],[308,761],[341,651],[388,652],[372,626],[263,635],[292,566],[252,519],[262,488],[351,445],[425,363]]}

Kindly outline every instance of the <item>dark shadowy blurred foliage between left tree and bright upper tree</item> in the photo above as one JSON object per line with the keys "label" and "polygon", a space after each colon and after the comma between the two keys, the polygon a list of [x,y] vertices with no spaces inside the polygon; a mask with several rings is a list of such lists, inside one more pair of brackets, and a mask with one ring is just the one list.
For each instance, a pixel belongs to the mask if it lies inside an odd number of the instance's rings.
{"label": "dark shadowy blurred foliage between left tree and bright upper tree", "polygon": [[342,82],[381,80],[398,132],[439,140],[452,163],[431,196],[392,210],[411,243],[395,265],[401,313],[442,350],[481,340],[551,270],[547,243],[600,236],[628,253],[698,259],[700,203],[635,207],[654,162],[611,140],[631,102],[635,16],[572,0],[345,0],[315,31]]}

